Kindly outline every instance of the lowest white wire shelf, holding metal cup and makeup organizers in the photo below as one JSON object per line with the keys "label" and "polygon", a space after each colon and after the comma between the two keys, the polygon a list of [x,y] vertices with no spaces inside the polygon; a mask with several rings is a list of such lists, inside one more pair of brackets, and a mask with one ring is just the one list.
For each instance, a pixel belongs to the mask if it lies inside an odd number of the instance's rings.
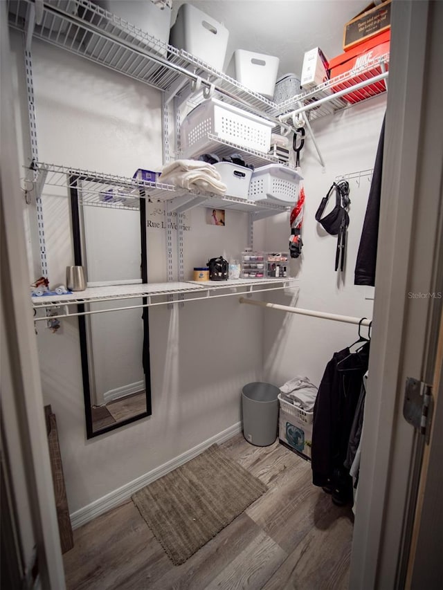
{"label": "lowest white wire shelf, holding metal cup and makeup organizers", "polygon": [[[203,301],[219,297],[233,297],[235,295],[252,295],[265,291],[280,291],[287,287],[298,286],[298,279],[284,277],[280,279],[228,279],[227,281],[207,282],[169,282],[169,283],[147,283],[132,285],[116,285],[104,287],[89,287],[84,291],[66,295],[41,295],[31,297],[35,310],[35,322],[48,319],[44,313],[39,311],[51,311],[51,319],[71,317],[77,315],[91,315],[95,313],[107,313],[110,311],[125,311],[126,309],[170,305],[174,303],[188,303],[192,301]],[[172,299],[172,297],[177,299]],[[89,308],[90,304],[107,302],[125,302],[131,299],[144,299],[142,303],[134,305],[105,306],[102,308]],[[78,306],[84,308],[78,308]]]}

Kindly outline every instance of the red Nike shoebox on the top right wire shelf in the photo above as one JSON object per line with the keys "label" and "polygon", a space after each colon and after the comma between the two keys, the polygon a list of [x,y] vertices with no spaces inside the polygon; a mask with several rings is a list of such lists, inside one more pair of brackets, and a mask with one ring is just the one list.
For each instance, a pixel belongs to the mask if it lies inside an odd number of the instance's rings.
{"label": "red Nike shoebox on the top right wire shelf", "polygon": [[[390,30],[379,33],[375,37],[368,39],[352,49],[345,51],[341,55],[337,55],[329,61],[329,68],[331,71],[332,91],[338,92],[349,88],[350,86],[368,80],[369,77],[376,76],[382,73],[380,57],[388,56],[385,61],[386,70],[389,66],[389,45],[390,45]],[[352,75],[354,73],[354,75]],[[349,74],[349,75],[346,75]],[[334,78],[341,76],[343,80],[337,80],[334,84]],[[343,98],[347,102],[359,102],[370,98],[381,92],[386,91],[384,80],[369,84],[362,89],[350,91],[345,94]]]}

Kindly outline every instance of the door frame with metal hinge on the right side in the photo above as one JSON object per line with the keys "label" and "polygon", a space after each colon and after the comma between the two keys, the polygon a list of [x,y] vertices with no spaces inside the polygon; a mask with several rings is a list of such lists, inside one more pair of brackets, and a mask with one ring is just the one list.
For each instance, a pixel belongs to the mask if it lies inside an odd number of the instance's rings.
{"label": "door frame with metal hinge on the right side", "polygon": [[[422,443],[403,417],[406,377],[429,380],[443,290],[439,2],[394,0],[372,353],[350,588],[401,588]],[[440,33],[441,34],[441,33]],[[412,295],[409,295],[412,294]],[[432,380],[432,374],[431,374]],[[429,382],[429,381],[428,381]],[[431,381],[432,382],[432,381]],[[413,513],[413,512],[412,512]]]}

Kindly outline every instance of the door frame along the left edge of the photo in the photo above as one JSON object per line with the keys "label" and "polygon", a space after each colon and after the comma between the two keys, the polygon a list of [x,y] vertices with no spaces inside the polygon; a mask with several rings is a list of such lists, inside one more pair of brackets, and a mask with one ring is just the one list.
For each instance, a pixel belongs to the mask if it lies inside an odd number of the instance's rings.
{"label": "door frame along the left edge of the photo", "polygon": [[[30,302],[15,127],[8,5],[0,2],[1,73],[1,422],[21,546],[21,575],[64,590],[64,569],[49,459],[37,342]],[[4,448],[3,448],[4,440]],[[19,551],[20,552],[20,551]],[[31,571],[36,562],[38,577]]]}

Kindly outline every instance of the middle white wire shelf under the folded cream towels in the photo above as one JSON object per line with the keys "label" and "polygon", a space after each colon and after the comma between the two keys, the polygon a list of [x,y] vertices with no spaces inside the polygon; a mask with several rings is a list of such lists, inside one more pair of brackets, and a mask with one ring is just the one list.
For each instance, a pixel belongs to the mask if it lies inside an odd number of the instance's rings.
{"label": "middle white wire shelf under the folded cream towels", "polygon": [[[183,213],[207,204],[209,207],[224,208],[255,214],[255,219],[274,215],[289,210],[289,205],[255,202],[230,195],[189,191],[165,183],[141,181],[137,178],[125,178],[116,174],[103,174],[67,166],[34,163],[35,192],[42,196],[45,186],[61,187],[61,191],[51,191],[51,196],[66,196],[69,190],[78,193],[82,205],[96,207],[131,209],[140,208],[140,199],[150,201],[169,201],[170,211]],[[29,182],[29,181],[28,181]]]}

